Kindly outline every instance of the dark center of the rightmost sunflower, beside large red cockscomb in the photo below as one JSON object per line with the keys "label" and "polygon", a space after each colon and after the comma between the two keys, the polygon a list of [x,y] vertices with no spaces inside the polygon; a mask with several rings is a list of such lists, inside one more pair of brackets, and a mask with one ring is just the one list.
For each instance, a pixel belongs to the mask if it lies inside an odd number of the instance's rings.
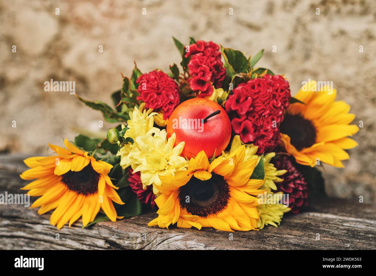
{"label": "dark center of the rightmost sunflower, beside large red cockscomb", "polygon": [[286,113],[279,130],[290,137],[291,144],[298,151],[303,148],[309,148],[316,143],[316,128],[314,124],[300,114]]}

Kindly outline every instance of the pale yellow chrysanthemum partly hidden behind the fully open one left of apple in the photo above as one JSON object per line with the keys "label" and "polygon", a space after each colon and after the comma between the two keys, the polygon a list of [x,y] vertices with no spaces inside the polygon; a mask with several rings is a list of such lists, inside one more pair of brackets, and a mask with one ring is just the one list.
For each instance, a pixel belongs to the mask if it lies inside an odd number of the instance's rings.
{"label": "pale yellow chrysanthemum partly hidden behind the fully open one left of apple", "polygon": [[[145,103],[140,104],[139,108],[129,112],[130,119],[127,121],[127,127],[129,128],[125,133],[124,137],[130,137],[133,141],[136,140],[139,136],[146,136],[148,134],[155,133],[159,129],[153,127],[154,119],[153,116],[156,115],[156,112],[152,112],[152,109],[146,110]],[[120,156],[120,166],[123,169],[130,166],[131,161],[128,159],[129,153],[133,148],[137,147],[137,143],[127,143],[117,153],[117,156]]]}

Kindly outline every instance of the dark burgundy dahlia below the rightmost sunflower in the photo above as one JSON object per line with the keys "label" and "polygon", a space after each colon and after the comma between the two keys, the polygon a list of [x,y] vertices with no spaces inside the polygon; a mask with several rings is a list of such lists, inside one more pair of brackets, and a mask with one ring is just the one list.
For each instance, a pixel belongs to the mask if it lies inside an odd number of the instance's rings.
{"label": "dark burgundy dahlia below the rightmost sunflower", "polygon": [[282,182],[276,182],[277,192],[283,192],[289,195],[289,206],[291,213],[297,214],[303,207],[308,205],[308,184],[302,173],[294,166],[293,158],[287,155],[281,155],[272,159],[272,163],[277,170],[287,170],[281,176]]}

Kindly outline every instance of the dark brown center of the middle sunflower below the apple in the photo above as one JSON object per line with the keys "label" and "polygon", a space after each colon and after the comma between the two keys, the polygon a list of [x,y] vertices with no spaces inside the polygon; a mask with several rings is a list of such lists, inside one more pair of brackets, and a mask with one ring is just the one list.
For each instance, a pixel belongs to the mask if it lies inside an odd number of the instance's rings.
{"label": "dark brown center of the middle sunflower below the apple", "polygon": [[180,206],[200,217],[219,213],[227,206],[229,198],[229,185],[223,176],[215,173],[204,181],[193,176],[179,189]]}

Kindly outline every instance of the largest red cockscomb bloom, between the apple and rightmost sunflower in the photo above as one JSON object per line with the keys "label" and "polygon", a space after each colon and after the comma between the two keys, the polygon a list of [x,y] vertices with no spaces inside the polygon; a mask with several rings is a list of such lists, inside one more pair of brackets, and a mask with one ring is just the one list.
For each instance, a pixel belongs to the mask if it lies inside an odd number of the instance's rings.
{"label": "largest red cockscomb bloom, between the apple and rightmost sunflower", "polygon": [[271,151],[279,142],[279,124],[289,106],[290,86],[280,75],[239,84],[226,101],[232,130],[243,143],[258,146],[258,153]]}

